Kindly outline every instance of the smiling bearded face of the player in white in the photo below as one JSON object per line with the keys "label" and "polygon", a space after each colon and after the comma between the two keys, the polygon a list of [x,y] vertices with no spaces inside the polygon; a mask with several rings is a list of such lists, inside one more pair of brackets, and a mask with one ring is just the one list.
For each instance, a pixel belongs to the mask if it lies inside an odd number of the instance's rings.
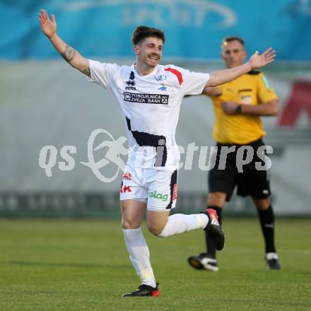
{"label": "smiling bearded face of the player in white", "polygon": [[146,37],[139,45],[134,45],[138,64],[154,68],[158,65],[163,50],[163,41],[158,37]]}

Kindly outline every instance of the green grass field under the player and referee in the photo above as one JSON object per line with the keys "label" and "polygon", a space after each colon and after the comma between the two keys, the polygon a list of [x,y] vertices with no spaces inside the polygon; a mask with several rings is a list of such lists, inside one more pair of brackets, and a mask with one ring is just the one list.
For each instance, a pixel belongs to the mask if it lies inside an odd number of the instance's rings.
{"label": "green grass field under the player and referee", "polygon": [[257,219],[225,219],[217,273],[187,264],[200,230],[146,233],[160,297],[120,298],[139,279],[119,221],[1,220],[0,310],[311,310],[311,220],[276,225],[281,271],[266,270]]}

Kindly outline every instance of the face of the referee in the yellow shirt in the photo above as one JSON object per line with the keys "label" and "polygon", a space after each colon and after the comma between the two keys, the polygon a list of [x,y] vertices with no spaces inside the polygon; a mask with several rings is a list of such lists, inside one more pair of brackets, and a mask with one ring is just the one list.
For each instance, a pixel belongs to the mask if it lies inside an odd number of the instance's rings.
{"label": "face of the referee in the yellow shirt", "polygon": [[246,52],[240,42],[237,40],[226,42],[222,49],[221,57],[223,57],[227,68],[233,68],[243,64]]}

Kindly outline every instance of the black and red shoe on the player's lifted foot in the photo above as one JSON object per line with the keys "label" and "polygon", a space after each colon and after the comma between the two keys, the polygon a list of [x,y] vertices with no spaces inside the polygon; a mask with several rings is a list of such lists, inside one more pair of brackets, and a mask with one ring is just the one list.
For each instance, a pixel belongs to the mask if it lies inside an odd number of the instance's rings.
{"label": "black and red shoe on the player's lifted foot", "polygon": [[209,217],[209,223],[207,223],[204,230],[213,240],[216,250],[222,250],[225,245],[225,233],[221,229],[221,225],[218,223],[218,216],[214,209],[206,209],[205,215]]}

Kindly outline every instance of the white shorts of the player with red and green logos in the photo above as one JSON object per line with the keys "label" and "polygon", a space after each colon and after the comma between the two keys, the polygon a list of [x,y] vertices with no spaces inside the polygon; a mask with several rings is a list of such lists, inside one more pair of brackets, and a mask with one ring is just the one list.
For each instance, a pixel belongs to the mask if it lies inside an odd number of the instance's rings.
{"label": "white shorts of the player with red and green logos", "polygon": [[177,201],[177,170],[125,168],[120,187],[120,200],[138,200],[148,211],[170,211]]}

